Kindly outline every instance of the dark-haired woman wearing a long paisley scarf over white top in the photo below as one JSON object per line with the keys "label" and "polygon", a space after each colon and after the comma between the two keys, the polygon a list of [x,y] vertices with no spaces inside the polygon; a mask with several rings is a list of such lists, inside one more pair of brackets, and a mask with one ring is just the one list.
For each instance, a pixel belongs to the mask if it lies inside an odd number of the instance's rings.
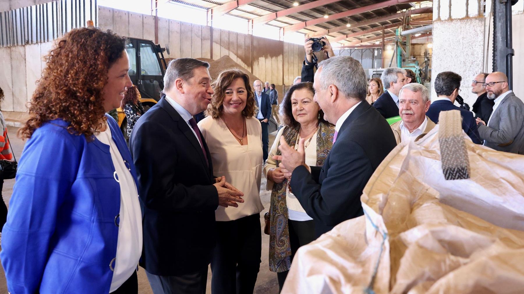
{"label": "dark-haired woman wearing a long paisley scarf over white top", "polygon": [[333,146],[335,126],[324,120],[319,104],[313,101],[312,83],[293,85],[280,105],[280,114],[285,127],[278,132],[264,166],[267,190],[271,190],[269,214],[269,269],[277,273],[278,286],[282,289],[294,253],[315,239],[313,219],[302,208],[288,186],[290,178],[280,171],[279,162],[272,157],[280,155],[280,137],[290,146],[298,147],[304,138],[305,163],[322,166]]}

